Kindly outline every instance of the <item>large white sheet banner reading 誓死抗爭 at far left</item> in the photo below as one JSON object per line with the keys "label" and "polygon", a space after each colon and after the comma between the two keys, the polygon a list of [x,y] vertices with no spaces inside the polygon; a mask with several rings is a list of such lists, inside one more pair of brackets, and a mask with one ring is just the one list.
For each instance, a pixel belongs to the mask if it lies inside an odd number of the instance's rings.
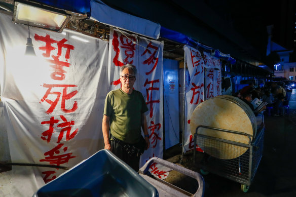
{"label": "large white sheet banner reading \u8a93\u6b7b\u6297\u722d at far left", "polygon": [[[0,13],[0,90],[13,163],[72,167],[103,148],[108,43],[30,28]],[[13,167],[14,196],[32,196],[64,170]],[[44,180],[44,182],[43,182]]]}

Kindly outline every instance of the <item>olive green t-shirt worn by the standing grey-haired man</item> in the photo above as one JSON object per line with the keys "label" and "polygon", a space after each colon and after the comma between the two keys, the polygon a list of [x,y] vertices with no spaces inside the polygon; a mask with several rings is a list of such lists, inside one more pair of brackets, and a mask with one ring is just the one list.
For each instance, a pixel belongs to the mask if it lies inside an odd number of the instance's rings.
{"label": "olive green t-shirt worn by the standing grey-haired man", "polygon": [[139,91],[127,94],[120,89],[110,91],[105,100],[104,115],[109,117],[111,134],[126,142],[136,143],[141,136],[141,114],[148,110]]}

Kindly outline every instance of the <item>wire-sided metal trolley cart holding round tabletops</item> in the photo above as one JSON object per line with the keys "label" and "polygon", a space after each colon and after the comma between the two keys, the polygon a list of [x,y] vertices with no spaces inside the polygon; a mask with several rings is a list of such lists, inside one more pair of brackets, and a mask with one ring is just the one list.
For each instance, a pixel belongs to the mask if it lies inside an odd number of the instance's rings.
{"label": "wire-sided metal trolley cart holding round tabletops", "polygon": [[[200,128],[210,129],[212,132],[227,132],[244,135],[248,137],[249,143],[244,144],[202,135],[199,134]],[[246,133],[207,126],[199,126],[196,128],[194,135],[194,147],[196,147],[197,142],[200,147],[209,147],[207,148],[207,151],[205,151],[209,155],[219,154],[221,153],[219,150],[223,150],[226,147],[227,150],[234,155],[234,159],[226,160],[218,159],[206,154],[207,156],[204,157],[199,166],[201,168],[202,174],[205,175],[208,172],[211,172],[213,174],[234,180],[241,183],[241,190],[243,192],[248,191],[263,154],[264,126],[257,130],[256,136],[253,140],[251,140],[251,136]],[[241,154],[240,151],[242,149],[246,150],[243,154]],[[194,159],[195,158],[196,151],[194,151]]]}

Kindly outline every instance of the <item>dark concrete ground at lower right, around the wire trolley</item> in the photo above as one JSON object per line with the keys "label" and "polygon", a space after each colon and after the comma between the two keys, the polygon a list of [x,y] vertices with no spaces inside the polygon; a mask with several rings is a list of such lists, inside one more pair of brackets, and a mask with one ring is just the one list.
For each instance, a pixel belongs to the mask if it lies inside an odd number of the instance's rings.
{"label": "dark concrete ground at lower right, around the wire trolley", "polygon": [[[296,196],[296,89],[290,95],[289,106],[288,115],[265,116],[263,157],[248,192],[241,191],[240,183],[210,173],[203,175],[204,196]],[[181,148],[177,145],[168,149],[164,157],[178,163],[180,152]],[[198,157],[203,156],[204,153],[198,153]],[[192,153],[184,155],[179,165],[200,172],[194,165]],[[197,190],[195,180],[174,171],[166,181],[191,193]]]}

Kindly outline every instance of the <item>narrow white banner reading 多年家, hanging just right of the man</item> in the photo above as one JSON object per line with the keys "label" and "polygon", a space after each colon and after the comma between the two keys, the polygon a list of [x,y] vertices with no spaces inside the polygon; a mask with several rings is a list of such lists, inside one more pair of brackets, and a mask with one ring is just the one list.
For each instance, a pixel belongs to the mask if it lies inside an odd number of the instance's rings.
{"label": "narrow white banner reading \u591a\u5e74\u5bb6, hanging just right of the man", "polygon": [[140,166],[163,154],[163,42],[139,41],[139,86],[149,109],[146,115],[150,148],[141,156]]}

